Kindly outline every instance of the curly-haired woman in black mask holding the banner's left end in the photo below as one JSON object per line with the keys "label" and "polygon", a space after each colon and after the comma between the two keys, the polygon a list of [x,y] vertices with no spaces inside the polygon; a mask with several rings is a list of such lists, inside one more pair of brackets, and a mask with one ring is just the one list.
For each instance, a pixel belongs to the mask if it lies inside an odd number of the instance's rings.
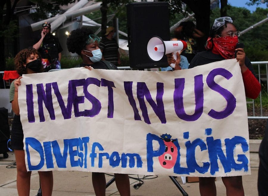
{"label": "curly-haired woman in black mask holding the banner's left end", "polygon": [[[15,56],[15,66],[19,75],[34,74],[43,72],[43,64],[40,61],[40,54],[34,48],[21,50]],[[27,172],[25,165],[25,152],[23,144],[23,130],[20,120],[20,108],[18,105],[18,87],[21,85],[21,79],[14,80],[10,85],[10,102],[15,113],[11,130],[11,148],[15,152],[17,163],[17,190],[19,196],[29,196],[30,178],[32,172]],[[26,104],[26,102],[24,103]],[[43,196],[51,196],[53,188],[52,171],[38,172]]]}

